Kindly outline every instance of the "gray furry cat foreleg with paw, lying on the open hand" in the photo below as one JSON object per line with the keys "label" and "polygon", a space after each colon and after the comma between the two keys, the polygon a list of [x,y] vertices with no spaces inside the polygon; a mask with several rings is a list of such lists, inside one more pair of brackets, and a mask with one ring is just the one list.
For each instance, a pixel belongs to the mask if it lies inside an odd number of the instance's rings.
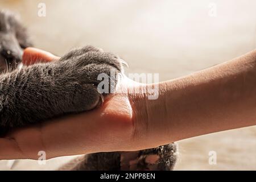
{"label": "gray furry cat foreleg with paw, lying on the open hand", "polygon": [[60,60],[1,75],[1,129],[94,109],[102,98],[97,77],[100,73],[110,75],[110,69],[122,71],[118,57],[86,46]]}

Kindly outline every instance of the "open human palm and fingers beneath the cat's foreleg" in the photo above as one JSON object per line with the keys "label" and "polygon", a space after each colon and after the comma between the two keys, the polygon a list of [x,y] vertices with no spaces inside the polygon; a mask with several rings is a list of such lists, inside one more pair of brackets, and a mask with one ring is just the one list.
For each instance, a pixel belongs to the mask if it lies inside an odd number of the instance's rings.
{"label": "open human palm and fingers beneath the cat's foreleg", "polygon": [[98,109],[12,131],[0,139],[0,159],[38,159],[39,151],[53,158],[126,150],[132,133],[129,99],[115,94]]}

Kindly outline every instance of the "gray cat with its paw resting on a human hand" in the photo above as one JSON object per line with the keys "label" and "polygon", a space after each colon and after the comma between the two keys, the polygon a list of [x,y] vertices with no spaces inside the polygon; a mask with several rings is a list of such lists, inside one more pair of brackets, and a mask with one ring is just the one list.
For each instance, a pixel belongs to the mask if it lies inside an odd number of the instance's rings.
{"label": "gray cat with its paw resting on a human hand", "polygon": [[[123,73],[117,55],[86,46],[60,60],[29,67],[18,65],[23,49],[32,46],[26,28],[16,15],[0,11],[0,135],[16,127],[43,122],[101,105],[97,77],[110,70]],[[114,85],[119,77],[112,77]],[[171,170],[176,163],[176,144],[136,152],[101,152],[73,160],[65,170]],[[153,162],[150,156],[157,156]]]}

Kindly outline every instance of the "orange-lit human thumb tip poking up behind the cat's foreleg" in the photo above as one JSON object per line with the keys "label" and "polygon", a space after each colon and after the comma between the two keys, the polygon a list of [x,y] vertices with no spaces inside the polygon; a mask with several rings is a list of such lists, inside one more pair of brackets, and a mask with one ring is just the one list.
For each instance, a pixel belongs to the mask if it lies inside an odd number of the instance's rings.
{"label": "orange-lit human thumb tip poking up behind the cat's foreleg", "polygon": [[53,60],[58,60],[60,57],[53,55],[47,51],[41,49],[28,47],[24,49],[22,56],[22,63],[24,65],[31,65],[35,63],[47,63]]}

